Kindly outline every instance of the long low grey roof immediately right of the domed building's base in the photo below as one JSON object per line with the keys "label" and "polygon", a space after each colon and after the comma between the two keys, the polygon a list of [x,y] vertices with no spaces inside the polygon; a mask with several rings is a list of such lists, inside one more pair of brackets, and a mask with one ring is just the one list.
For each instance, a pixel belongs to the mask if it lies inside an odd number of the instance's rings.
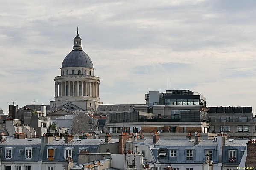
{"label": "long low grey roof immediately right of the domed building's base", "polygon": [[120,104],[120,105],[99,105],[97,112],[125,112],[133,111],[135,104]]}

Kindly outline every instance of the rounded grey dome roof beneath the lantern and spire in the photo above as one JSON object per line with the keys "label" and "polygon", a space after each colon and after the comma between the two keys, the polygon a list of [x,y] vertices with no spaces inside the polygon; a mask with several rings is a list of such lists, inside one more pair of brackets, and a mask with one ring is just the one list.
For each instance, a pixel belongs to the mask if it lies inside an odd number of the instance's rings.
{"label": "rounded grey dome roof beneath the lantern and spire", "polygon": [[62,68],[65,67],[87,67],[93,68],[91,58],[82,50],[73,50],[65,57]]}

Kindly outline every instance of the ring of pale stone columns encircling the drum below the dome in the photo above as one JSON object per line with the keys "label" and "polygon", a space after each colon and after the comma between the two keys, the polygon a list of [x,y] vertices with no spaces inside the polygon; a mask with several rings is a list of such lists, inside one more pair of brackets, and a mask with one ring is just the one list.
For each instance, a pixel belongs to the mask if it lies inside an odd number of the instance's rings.
{"label": "ring of pale stone columns encircling the drum below the dome", "polygon": [[88,81],[61,81],[55,82],[55,97],[88,96],[99,97],[99,82]]}

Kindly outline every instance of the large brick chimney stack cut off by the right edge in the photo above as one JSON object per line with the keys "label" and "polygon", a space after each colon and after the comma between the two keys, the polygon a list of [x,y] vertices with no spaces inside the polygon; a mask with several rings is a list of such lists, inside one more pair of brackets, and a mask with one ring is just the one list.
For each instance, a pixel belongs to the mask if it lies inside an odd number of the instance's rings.
{"label": "large brick chimney stack cut off by the right edge", "polygon": [[247,143],[247,155],[244,167],[256,167],[256,140],[250,140]]}

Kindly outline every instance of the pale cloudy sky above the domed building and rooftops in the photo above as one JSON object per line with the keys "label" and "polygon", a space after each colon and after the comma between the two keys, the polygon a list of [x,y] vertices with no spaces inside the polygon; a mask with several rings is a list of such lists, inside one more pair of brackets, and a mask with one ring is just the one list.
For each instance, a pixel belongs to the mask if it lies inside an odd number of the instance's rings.
{"label": "pale cloudy sky above the domed building and rooftops", "polygon": [[103,104],[145,104],[149,91],[189,89],[207,106],[256,109],[256,1],[2,0],[0,108],[50,105],[73,50],[100,77]]}

